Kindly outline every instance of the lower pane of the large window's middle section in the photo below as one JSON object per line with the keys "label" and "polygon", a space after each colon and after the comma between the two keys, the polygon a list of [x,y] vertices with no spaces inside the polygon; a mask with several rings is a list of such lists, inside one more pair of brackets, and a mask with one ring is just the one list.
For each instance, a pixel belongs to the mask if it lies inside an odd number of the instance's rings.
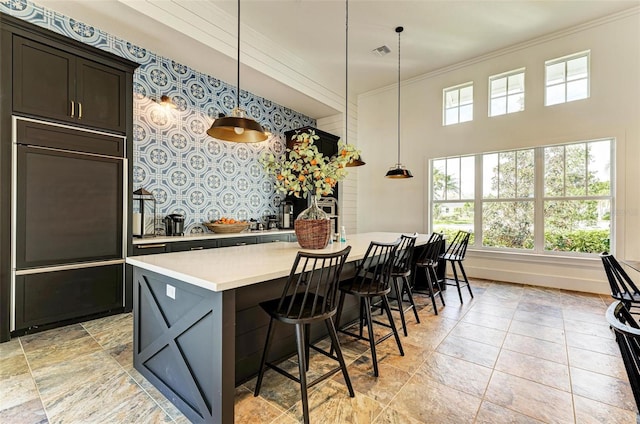
{"label": "lower pane of the large window's middle section", "polygon": [[533,249],[533,202],[484,203],[482,245]]}

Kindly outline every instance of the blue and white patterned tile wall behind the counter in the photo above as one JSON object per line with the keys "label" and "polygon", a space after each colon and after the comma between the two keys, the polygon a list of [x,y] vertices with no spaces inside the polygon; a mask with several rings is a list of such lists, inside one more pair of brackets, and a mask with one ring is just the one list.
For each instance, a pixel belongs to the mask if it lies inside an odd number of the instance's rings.
{"label": "blue and white patterned tile wall behind the counter", "polygon": [[[280,197],[258,158],[284,151],[284,132],[315,126],[314,119],[241,90],[241,107],[272,138],[257,144],[215,140],[206,130],[235,106],[235,86],[26,0],[0,1],[0,11],[140,64],[133,78],[133,186],[155,195],[158,223],[181,213],[185,232],[206,232],[205,220],[277,212]],[[177,108],[160,106],[162,95]]]}

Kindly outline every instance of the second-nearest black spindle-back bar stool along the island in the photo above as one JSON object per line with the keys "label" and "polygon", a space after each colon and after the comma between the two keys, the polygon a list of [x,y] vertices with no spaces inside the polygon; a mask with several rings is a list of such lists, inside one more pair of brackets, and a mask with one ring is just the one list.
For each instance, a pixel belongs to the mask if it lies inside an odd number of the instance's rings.
{"label": "second-nearest black spindle-back bar stool along the island", "polygon": [[[362,262],[360,262],[356,269],[355,277],[340,284],[340,301],[338,302],[338,312],[336,314],[336,326],[338,327],[338,331],[341,333],[356,337],[360,340],[367,340],[369,342],[369,346],[371,348],[371,360],[373,361],[373,374],[376,377],[379,375],[378,358],[376,356],[376,345],[378,343],[394,336],[400,355],[404,356],[404,350],[402,349],[398,330],[396,329],[396,325],[393,321],[391,308],[389,307],[389,300],[387,299],[387,294],[391,290],[389,286],[391,269],[393,268],[399,244],[399,239],[393,243],[371,242],[367,249],[367,253],[365,253],[364,259],[362,259]],[[360,323],[359,334],[340,328],[340,316],[342,315],[344,299],[347,294],[357,296],[360,299],[360,317],[358,319]],[[389,320],[388,324],[380,321],[374,321],[371,317],[371,301],[377,297],[382,299],[381,307],[387,313],[387,318]],[[374,323],[390,328],[391,332],[376,340],[373,334]],[[369,337],[364,337],[362,335],[365,324],[367,326]],[[349,325],[351,325],[351,323],[347,326]]]}

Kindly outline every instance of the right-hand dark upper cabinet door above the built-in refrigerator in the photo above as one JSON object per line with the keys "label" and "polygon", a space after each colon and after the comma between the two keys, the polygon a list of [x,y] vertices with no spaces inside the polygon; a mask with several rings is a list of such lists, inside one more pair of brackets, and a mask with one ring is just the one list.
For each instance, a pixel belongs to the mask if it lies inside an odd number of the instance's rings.
{"label": "right-hand dark upper cabinet door above the built-in refrigerator", "polygon": [[79,123],[126,131],[126,74],[96,62],[76,61],[76,113]]}

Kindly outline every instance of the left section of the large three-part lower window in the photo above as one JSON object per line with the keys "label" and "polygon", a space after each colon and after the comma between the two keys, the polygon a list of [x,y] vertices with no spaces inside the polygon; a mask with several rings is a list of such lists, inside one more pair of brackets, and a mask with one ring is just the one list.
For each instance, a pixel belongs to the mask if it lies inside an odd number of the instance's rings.
{"label": "left section of the large three-part lower window", "polygon": [[433,231],[443,232],[451,238],[458,230],[473,232],[474,173],[473,156],[432,162]]}

